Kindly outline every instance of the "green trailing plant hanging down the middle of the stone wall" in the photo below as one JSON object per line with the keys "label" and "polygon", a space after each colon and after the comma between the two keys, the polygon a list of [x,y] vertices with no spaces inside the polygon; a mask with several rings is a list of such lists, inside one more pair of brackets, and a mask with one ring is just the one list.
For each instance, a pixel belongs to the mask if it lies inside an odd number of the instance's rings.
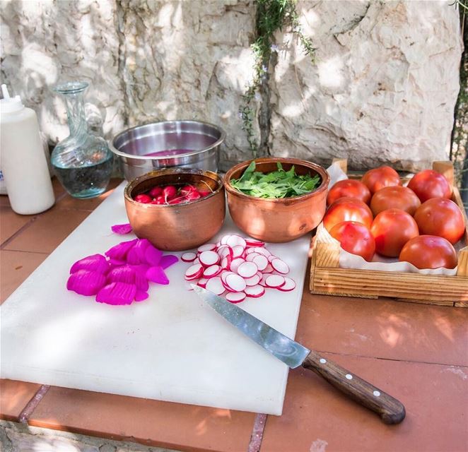
{"label": "green trailing plant hanging down the middle of the stone wall", "polygon": [[242,106],[239,115],[242,119],[242,129],[247,135],[250,151],[253,157],[259,153],[259,143],[255,136],[253,121],[255,119],[254,101],[261,98],[260,91],[267,83],[271,53],[276,49],[274,33],[283,27],[291,27],[292,32],[298,37],[305,54],[310,55],[312,61],[315,49],[312,42],[306,37],[300,28],[299,17],[296,11],[296,0],[256,0],[257,16],[255,20],[256,39],[250,46],[254,54],[254,75],[252,83],[242,96]]}

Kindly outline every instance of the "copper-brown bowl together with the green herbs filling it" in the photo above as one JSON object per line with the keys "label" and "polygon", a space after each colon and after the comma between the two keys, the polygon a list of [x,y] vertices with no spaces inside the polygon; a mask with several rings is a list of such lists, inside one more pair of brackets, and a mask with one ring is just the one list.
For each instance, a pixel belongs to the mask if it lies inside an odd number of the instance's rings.
{"label": "copper-brown bowl together with the green herbs filling it", "polygon": [[290,242],[322,220],[329,179],[320,165],[296,158],[239,163],[224,177],[230,216],[250,237]]}

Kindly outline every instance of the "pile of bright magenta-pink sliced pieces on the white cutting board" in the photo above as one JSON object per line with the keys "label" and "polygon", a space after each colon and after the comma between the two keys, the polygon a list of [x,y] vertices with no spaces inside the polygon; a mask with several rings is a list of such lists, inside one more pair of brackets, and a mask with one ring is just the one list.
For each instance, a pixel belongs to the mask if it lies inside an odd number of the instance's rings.
{"label": "pile of bright magenta-pink sliced pieces on the white cutting board", "polygon": [[148,298],[149,281],[169,284],[165,268],[179,259],[163,256],[147,239],[122,242],[102,254],[76,261],[66,288],[80,295],[95,295],[106,304],[131,304]]}

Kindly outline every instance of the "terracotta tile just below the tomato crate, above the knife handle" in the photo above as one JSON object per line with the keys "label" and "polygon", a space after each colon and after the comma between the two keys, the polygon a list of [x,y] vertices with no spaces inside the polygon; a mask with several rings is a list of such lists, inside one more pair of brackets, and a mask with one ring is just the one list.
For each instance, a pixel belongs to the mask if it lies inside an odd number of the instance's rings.
{"label": "terracotta tile just below the tomato crate, above the knife handle", "polygon": [[296,340],[315,350],[468,365],[468,309],[310,295]]}

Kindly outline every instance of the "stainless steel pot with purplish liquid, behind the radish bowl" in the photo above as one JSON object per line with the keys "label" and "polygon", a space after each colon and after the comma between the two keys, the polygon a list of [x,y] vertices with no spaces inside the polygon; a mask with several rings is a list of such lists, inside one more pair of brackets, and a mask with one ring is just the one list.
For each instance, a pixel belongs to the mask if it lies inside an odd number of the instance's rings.
{"label": "stainless steel pot with purplish liquid, behind the radish bowl", "polygon": [[112,140],[110,149],[122,162],[125,179],[164,167],[218,171],[223,129],[201,121],[162,121],[132,127]]}

